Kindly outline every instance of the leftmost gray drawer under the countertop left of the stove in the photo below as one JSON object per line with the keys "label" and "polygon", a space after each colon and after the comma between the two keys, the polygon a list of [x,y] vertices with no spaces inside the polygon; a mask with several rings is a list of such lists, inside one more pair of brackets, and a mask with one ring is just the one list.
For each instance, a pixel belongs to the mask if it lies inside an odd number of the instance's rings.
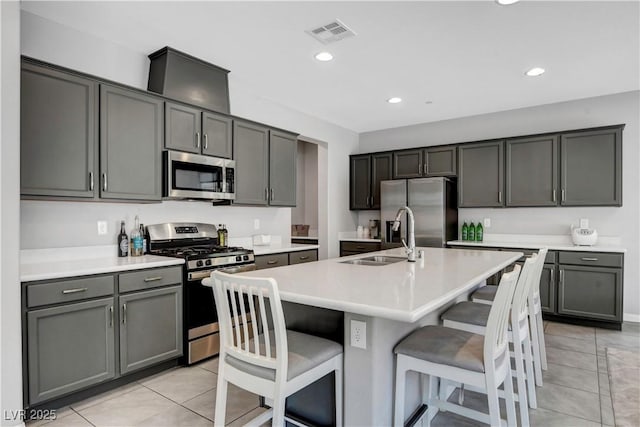
{"label": "leftmost gray drawer under the countertop left of the stove", "polygon": [[27,307],[113,295],[113,276],[83,277],[27,286]]}

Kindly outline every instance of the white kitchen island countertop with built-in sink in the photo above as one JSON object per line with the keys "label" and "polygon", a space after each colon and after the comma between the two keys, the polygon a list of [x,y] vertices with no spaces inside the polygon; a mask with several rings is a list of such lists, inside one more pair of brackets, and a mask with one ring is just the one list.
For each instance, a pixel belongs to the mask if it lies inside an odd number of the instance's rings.
{"label": "white kitchen island countertop with built-in sink", "polygon": [[403,249],[389,249],[238,274],[273,277],[283,301],[415,322],[522,256],[507,251],[420,249],[425,259],[415,263],[343,263],[382,254],[406,258]]}

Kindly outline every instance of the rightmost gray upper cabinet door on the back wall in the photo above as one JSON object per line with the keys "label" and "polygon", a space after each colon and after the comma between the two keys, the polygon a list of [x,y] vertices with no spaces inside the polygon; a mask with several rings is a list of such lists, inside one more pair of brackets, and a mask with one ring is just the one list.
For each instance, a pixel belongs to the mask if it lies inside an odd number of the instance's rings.
{"label": "rightmost gray upper cabinet door on the back wall", "polygon": [[560,137],[563,206],[622,206],[622,129]]}

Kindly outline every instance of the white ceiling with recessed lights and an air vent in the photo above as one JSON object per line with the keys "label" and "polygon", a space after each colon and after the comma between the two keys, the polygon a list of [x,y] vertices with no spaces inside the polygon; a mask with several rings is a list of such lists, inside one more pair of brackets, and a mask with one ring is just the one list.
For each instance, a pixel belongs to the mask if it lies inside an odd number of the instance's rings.
{"label": "white ceiling with recessed lights and an air vent", "polygon": [[[174,47],[231,70],[234,86],[357,132],[640,89],[637,0],[22,8],[145,54]],[[357,36],[324,46],[305,33],[335,18]],[[322,50],[335,59],[317,62]],[[525,77],[533,66],[547,72]]]}

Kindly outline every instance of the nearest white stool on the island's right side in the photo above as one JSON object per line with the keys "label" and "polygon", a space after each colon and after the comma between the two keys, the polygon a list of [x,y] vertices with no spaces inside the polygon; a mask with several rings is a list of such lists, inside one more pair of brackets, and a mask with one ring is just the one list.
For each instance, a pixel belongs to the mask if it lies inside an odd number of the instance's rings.
{"label": "nearest white stool on the island's right side", "polygon": [[[429,375],[429,393],[426,403],[429,420],[438,410],[451,411],[465,417],[498,426],[500,418],[498,387],[504,384],[507,406],[507,424],[516,425],[513,384],[509,358],[507,326],[509,307],[515,291],[520,267],[505,273],[491,306],[486,334],[483,336],[444,326],[424,326],[409,334],[396,345],[396,381],[393,425],[404,423],[405,382],[407,371]],[[469,384],[484,389],[489,400],[489,414],[448,402],[438,397],[439,380]]]}

